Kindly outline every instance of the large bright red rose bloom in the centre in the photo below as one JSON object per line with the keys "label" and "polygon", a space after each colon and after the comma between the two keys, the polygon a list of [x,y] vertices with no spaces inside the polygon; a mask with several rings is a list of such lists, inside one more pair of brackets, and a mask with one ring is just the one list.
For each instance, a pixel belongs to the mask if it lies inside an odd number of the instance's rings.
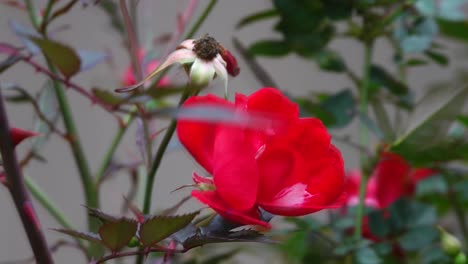
{"label": "large bright red rose bloom in the centre", "polygon": [[[241,224],[270,227],[259,208],[284,216],[339,207],[344,166],[340,151],[319,119],[299,118],[298,106],[279,90],[263,88],[235,103],[214,95],[195,96],[182,108],[215,106],[244,115],[261,114],[262,129],[206,120],[179,120],[177,134],[212,176],[214,190],[192,196]],[[263,123],[265,122],[265,124]]]}

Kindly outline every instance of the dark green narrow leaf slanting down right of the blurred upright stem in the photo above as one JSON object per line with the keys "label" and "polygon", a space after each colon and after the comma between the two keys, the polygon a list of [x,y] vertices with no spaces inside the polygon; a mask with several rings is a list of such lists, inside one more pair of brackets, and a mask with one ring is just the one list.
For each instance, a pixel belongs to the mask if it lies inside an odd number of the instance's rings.
{"label": "dark green narrow leaf slanting down right of the blurred upright stem", "polygon": [[384,68],[378,65],[372,65],[369,74],[373,85],[387,88],[392,94],[395,95],[408,94],[409,88],[404,83],[395,79]]}

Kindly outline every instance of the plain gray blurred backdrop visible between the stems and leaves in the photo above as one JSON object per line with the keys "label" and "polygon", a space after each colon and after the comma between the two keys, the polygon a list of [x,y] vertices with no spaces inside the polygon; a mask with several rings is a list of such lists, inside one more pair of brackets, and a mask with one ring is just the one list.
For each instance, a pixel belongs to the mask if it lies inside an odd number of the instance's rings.
{"label": "plain gray blurred backdrop visible between the stems and leaves", "polygon": [[[46,1],[35,1],[36,6],[43,6]],[[144,47],[151,45],[153,37],[161,33],[172,32],[175,29],[176,14],[182,12],[188,1],[183,0],[140,0],[139,6],[139,31],[141,42]],[[208,1],[199,1],[199,5],[194,17],[201,12]],[[277,37],[272,31],[275,20],[257,23],[254,26],[246,27],[240,31],[235,30],[235,25],[239,19],[255,11],[264,10],[271,7],[268,0],[220,0],[215,6],[212,14],[205,21],[198,36],[209,33],[219,42],[231,50],[234,55],[237,51],[233,48],[232,38],[237,37],[242,43],[250,44],[255,40],[263,38]],[[25,12],[0,5],[0,42],[8,42],[20,45],[18,39],[8,28],[9,20],[14,19],[24,25],[29,26],[28,17]],[[192,20],[193,21],[193,20]],[[119,78],[125,68],[129,65],[129,58],[123,48],[120,36],[110,28],[108,17],[97,7],[90,6],[82,8],[77,5],[72,12],[53,23],[52,28],[60,25],[70,25],[70,29],[60,32],[56,38],[64,43],[71,44],[75,48],[87,50],[109,50],[113,56],[114,67],[106,64],[98,65],[95,69],[82,73],[73,79],[86,88],[101,87],[112,90],[118,87]],[[461,46],[456,43],[442,41],[449,47],[451,66],[442,68],[436,65],[417,67],[409,71],[409,84],[420,96],[428,84],[453,78],[455,69],[463,67],[466,60],[466,53]],[[392,51],[385,41],[379,41],[375,50],[375,62],[392,65]],[[350,40],[335,41],[332,47],[338,50],[346,59],[355,72],[360,74],[363,50],[362,46]],[[245,62],[237,55],[241,73],[238,77],[231,79],[229,89],[231,94],[236,92],[251,93],[260,84],[255,76],[249,72]],[[3,57],[1,57],[3,59]],[[312,61],[305,61],[296,56],[288,56],[279,59],[260,59],[278,84],[278,88],[289,92],[292,95],[306,95],[310,91],[338,91],[346,87],[352,87],[352,83],[345,75],[323,73]],[[175,70],[171,74],[172,79],[185,80],[182,70]],[[14,68],[0,75],[2,83],[17,83],[20,86],[34,93],[39,90],[46,79],[41,74],[37,74],[30,66],[19,63]],[[215,81],[210,92],[222,95],[222,83]],[[68,91],[69,100],[76,119],[80,138],[84,142],[85,152],[88,155],[93,172],[97,170],[102,155],[106,151],[110,140],[116,131],[115,120],[107,113],[77,95],[74,91]],[[8,107],[10,125],[30,129],[33,126],[32,109],[29,106]],[[158,123],[159,121],[156,121]],[[161,126],[162,123],[159,123]],[[158,125],[158,124],[156,124]],[[339,134],[351,134],[354,140],[358,140],[357,126],[350,125],[345,131]],[[117,157],[120,160],[136,160],[138,149],[135,146],[135,126],[127,132],[123,144],[120,145]],[[348,169],[358,165],[357,153],[346,145],[336,142],[342,150],[345,164]],[[18,148],[19,156],[28,148],[28,144],[23,144]],[[60,138],[53,138],[44,148],[43,156],[48,163],[42,164],[32,162],[27,168],[27,174],[45,190],[45,192],[57,203],[58,207],[72,220],[73,224],[81,230],[86,229],[86,214],[81,206],[83,195],[81,183],[75,168],[75,163],[71,156],[68,145]],[[164,158],[163,165],[158,172],[155,195],[153,200],[153,212],[158,209],[176,203],[189,193],[189,190],[182,190],[171,193],[172,190],[184,184],[191,183],[191,173],[199,169],[195,162],[184,152],[181,147],[172,147]],[[199,170],[200,171],[200,170]],[[126,175],[119,175],[112,181],[105,182],[101,191],[102,208],[110,213],[119,214],[122,206],[122,196],[128,192],[129,179]],[[197,208],[195,202],[190,203],[182,211],[190,208]],[[39,218],[45,228],[46,237],[50,244],[63,239],[64,236],[50,231],[47,228],[59,227],[59,225],[36,204]],[[278,219],[274,220],[274,224]],[[256,260],[256,263],[279,263],[281,259],[267,257],[263,254],[259,257],[252,257],[252,250],[260,245],[250,247],[247,258],[238,258],[238,263]],[[10,260],[21,260],[32,256],[28,241],[19,221],[16,210],[8,191],[0,186],[0,263]],[[76,249],[63,248],[54,254],[56,263],[85,263]]]}

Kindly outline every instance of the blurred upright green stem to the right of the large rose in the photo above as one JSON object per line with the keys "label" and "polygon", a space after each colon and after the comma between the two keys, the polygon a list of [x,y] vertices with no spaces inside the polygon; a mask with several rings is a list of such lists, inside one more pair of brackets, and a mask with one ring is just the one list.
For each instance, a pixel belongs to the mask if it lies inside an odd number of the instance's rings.
{"label": "blurred upright green stem to the right of the large rose", "polygon": [[[367,89],[369,85],[369,75],[370,75],[370,67],[372,64],[372,53],[373,53],[373,41],[366,41],[365,42],[365,51],[364,51],[364,68],[363,68],[363,76],[360,82],[359,87],[359,111],[363,114],[367,114],[368,108],[368,94]],[[368,145],[368,131],[365,124],[361,122],[360,124],[360,141],[361,146]],[[365,161],[367,156],[363,153],[359,153],[360,161],[361,161],[361,168],[364,168]],[[356,222],[354,227],[354,238],[356,240],[361,239],[362,234],[362,218],[364,215],[364,198],[366,196],[366,186],[367,186],[367,173],[362,170],[362,178],[359,185],[359,203],[356,208]]]}

